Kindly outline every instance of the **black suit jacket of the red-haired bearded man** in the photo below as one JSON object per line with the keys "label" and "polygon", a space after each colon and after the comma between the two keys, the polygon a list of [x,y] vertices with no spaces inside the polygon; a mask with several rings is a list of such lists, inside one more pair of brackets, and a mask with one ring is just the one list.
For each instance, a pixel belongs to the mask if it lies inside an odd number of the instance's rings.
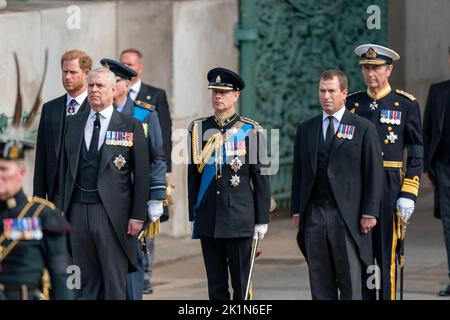
{"label": "black suit jacket of the red-haired bearded man", "polygon": [[[42,106],[41,119],[36,145],[34,162],[33,194],[35,196],[55,200],[58,192],[59,155],[61,141],[66,122],[67,95],[53,99]],[[78,112],[89,109],[87,99],[84,100]]]}

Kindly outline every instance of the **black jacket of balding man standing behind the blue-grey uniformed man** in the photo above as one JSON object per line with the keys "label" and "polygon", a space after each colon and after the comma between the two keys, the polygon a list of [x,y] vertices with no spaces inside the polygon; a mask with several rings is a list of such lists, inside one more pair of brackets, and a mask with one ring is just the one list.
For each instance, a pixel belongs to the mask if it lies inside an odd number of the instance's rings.
{"label": "black jacket of balding man standing behind the blue-grey uniformed man", "polygon": [[166,92],[163,89],[152,87],[142,82],[141,89],[136,97],[150,103],[158,111],[159,124],[163,136],[163,148],[166,154],[167,172],[172,171],[172,119],[170,117],[169,104],[167,103]]}

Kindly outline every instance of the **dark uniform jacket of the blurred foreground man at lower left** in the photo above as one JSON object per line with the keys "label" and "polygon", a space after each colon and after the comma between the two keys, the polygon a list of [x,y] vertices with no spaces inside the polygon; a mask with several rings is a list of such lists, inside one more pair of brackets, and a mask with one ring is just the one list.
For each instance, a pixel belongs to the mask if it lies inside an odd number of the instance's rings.
{"label": "dark uniform jacket of the blurred foreground man at lower left", "polygon": [[[66,269],[68,267],[67,233],[69,226],[61,213],[52,203],[41,198],[28,199],[21,190],[14,197],[15,206],[10,208],[6,201],[0,201],[0,219],[17,218],[25,206],[30,205],[24,218],[35,214],[40,222],[42,239],[20,240],[0,264],[0,283],[4,285],[41,285],[42,272],[47,268],[50,274],[50,298],[72,299],[72,292],[67,288]],[[0,234],[4,234],[4,224],[0,224]],[[1,245],[7,248],[11,240],[4,240]],[[42,288],[41,288],[42,292]]]}

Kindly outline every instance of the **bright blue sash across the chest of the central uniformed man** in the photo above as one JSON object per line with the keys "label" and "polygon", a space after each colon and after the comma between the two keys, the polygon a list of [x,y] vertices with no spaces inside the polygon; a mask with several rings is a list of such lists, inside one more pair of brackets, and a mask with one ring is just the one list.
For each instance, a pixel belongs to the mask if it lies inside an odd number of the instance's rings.
{"label": "bright blue sash across the chest of the central uniformed man", "polygon": [[[235,133],[234,135],[232,135],[230,137],[229,140],[232,140],[235,142],[244,141],[245,137],[247,137],[248,133],[250,132],[250,129],[252,129],[251,124],[248,124],[248,123],[244,124],[237,133]],[[221,159],[222,160],[221,165],[223,165],[225,163],[225,158],[226,158],[226,154],[223,149],[225,149],[225,144],[222,146],[223,156]],[[210,159],[214,159],[214,156],[215,156],[215,152],[213,152]],[[200,203],[202,202],[203,198],[205,197],[206,190],[208,189],[209,185],[211,184],[215,174],[216,174],[216,165],[215,165],[214,161],[208,161],[208,163],[203,168],[202,180],[200,182],[200,190],[199,190],[198,196],[197,196],[197,203],[195,204],[194,210],[193,210],[194,211],[194,221],[195,221],[196,210],[198,209],[198,207],[200,207]],[[197,235],[195,234],[195,223],[194,223],[194,230],[192,231],[192,239],[198,239]]]}

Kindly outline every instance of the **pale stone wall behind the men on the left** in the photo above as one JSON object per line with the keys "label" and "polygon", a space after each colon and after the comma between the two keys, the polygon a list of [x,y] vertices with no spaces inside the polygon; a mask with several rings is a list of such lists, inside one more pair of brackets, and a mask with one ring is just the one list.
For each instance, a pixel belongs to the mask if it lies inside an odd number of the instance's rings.
{"label": "pale stone wall behind the men on the left", "polygon": [[[71,5],[80,9],[79,29],[67,28]],[[101,58],[118,58],[122,49],[136,47],[144,54],[144,82],[167,92],[172,129],[185,129],[194,118],[211,112],[207,71],[219,65],[238,70],[238,50],[233,46],[238,16],[238,0],[9,0],[0,11],[0,112],[11,116],[15,104],[13,52],[20,60],[22,96],[29,110],[42,76],[45,48],[49,65],[43,101],[64,93],[59,59],[65,51],[84,50],[99,66]],[[27,167],[25,190],[31,193],[33,153],[27,156]],[[175,205],[162,232],[184,236],[190,233],[184,164],[174,164],[169,181],[176,185]]]}

